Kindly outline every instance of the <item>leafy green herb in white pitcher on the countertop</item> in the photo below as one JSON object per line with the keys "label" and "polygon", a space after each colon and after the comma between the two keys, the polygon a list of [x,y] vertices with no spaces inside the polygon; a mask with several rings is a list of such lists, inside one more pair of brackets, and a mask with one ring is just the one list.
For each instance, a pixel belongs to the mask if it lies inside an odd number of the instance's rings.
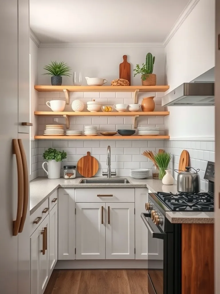
{"label": "leafy green herb in white pitcher on the countertop", "polygon": [[[67,158],[67,153],[65,151],[58,151],[57,149],[48,148],[43,153],[43,158],[48,160],[42,163],[43,170],[47,173],[48,179],[59,179],[61,170],[61,161]],[[44,164],[47,164],[48,170],[44,168]]]}

